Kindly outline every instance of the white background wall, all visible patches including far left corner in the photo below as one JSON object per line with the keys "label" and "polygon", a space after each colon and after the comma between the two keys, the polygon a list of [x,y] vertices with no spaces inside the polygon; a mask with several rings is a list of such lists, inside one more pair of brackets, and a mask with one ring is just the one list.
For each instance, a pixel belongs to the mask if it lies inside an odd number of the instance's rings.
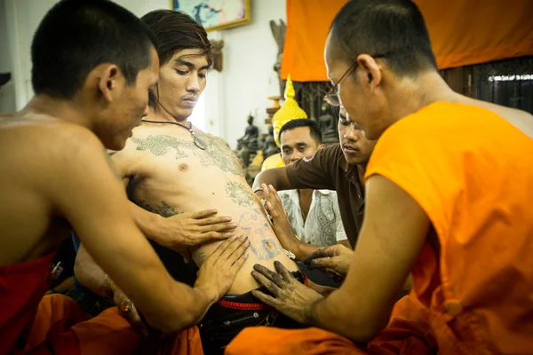
{"label": "white background wall, all visible patches including far left corner", "polygon": [[[59,0],[0,0],[4,2],[9,51],[13,63],[12,77],[17,109],[33,96],[31,90],[30,45],[44,14]],[[155,9],[169,9],[168,0],[115,0],[139,17]],[[0,10],[2,10],[0,8]],[[270,31],[270,20],[286,21],[285,0],[251,0],[251,22],[238,28],[210,32],[210,39],[223,39],[224,69],[209,75],[203,100],[192,121],[204,130],[227,139],[236,146],[244,134],[246,118],[258,114],[255,124],[261,133],[268,96],[279,95],[273,70],[277,45]],[[0,44],[1,45],[1,44]],[[2,47],[0,46],[0,51]],[[0,52],[4,56],[4,52]]]}

